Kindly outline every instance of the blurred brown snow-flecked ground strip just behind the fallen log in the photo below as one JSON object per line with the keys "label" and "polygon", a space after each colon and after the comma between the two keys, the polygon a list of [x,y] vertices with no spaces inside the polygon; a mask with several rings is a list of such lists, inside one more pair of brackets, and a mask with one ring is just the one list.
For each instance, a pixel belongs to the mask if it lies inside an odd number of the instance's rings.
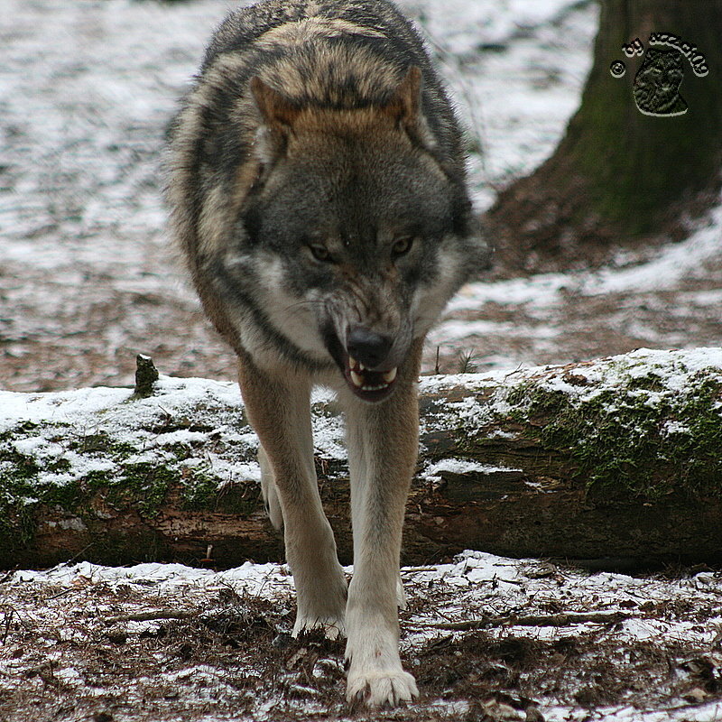
{"label": "blurred brown snow-flecked ground strip just behind the fallen log", "polygon": [[[10,332],[0,338],[3,387],[28,392],[132,385],[137,353],[153,356],[166,375],[234,379],[233,355],[190,291],[174,280],[181,273],[169,268],[165,249],[148,243],[141,257],[143,266],[162,272],[134,270],[140,280],[128,279],[123,264],[105,272],[76,270],[77,282],[56,283],[43,270],[25,267],[21,285],[13,264],[0,269],[3,295],[12,301],[5,311]],[[159,273],[165,278],[156,284]],[[580,278],[569,274],[549,302],[534,301],[532,279],[523,301],[482,298],[472,309],[452,308],[430,335],[424,373],[455,373],[469,355],[467,368],[486,370],[568,363],[639,347],[722,344],[722,252],[659,289],[592,295],[579,292]],[[483,286],[478,282],[468,292],[504,293],[504,282]],[[39,289],[41,297],[32,298]],[[540,291],[542,301],[546,295]],[[467,330],[449,338],[444,329],[454,321],[466,323]]]}

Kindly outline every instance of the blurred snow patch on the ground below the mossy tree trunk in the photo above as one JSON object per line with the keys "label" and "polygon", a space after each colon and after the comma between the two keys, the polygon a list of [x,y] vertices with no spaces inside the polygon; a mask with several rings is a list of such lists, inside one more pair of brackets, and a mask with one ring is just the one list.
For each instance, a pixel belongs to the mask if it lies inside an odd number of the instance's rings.
{"label": "blurred snow patch on the ground below the mossy tree trunk", "polygon": [[[497,282],[474,282],[463,288],[449,303],[444,316],[429,335],[431,347],[486,349],[479,361],[486,367],[508,366],[514,356],[489,351],[495,339],[504,339],[504,347],[531,349],[526,356],[552,356],[563,362],[565,343],[576,343],[575,337],[590,335],[584,326],[570,329],[573,323],[574,300],[593,304],[595,300],[610,298],[618,310],[618,319],[606,311],[606,333],[623,333],[630,339],[639,338],[660,347],[698,346],[694,342],[695,329],[686,335],[671,334],[669,324],[660,319],[688,319],[693,309],[716,308],[722,290],[714,282],[706,283],[700,291],[686,288],[695,280],[713,277],[720,257],[720,228],[722,228],[722,198],[708,214],[692,225],[690,236],[677,244],[663,245],[646,261],[624,267],[606,267],[596,272],[548,273],[531,278]],[[708,286],[712,285],[712,288]],[[673,299],[669,294],[674,292]],[[643,305],[650,312],[640,318],[636,309]],[[496,307],[504,312],[499,314]],[[591,308],[591,307],[590,307]],[[652,313],[652,311],[654,311]],[[516,320],[508,320],[512,312]],[[461,318],[459,318],[461,317]],[[584,324],[585,319],[579,319]],[[717,337],[718,338],[718,337]],[[476,339],[479,339],[478,341]],[[710,338],[713,341],[713,337]],[[714,341],[713,341],[714,342]],[[571,359],[569,359],[571,360]]]}

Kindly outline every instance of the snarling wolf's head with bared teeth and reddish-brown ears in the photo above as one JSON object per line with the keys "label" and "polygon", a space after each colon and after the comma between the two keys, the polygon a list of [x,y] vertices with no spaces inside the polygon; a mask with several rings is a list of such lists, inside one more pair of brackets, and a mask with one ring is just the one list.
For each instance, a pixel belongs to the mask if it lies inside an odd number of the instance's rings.
{"label": "snarling wolf's head with bared teeth and reddish-brown ears", "polygon": [[380,401],[477,270],[463,171],[443,157],[410,69],[384,104],[296,106],[261,79],[259,162],[242,223],[264,314],[351,390]]}

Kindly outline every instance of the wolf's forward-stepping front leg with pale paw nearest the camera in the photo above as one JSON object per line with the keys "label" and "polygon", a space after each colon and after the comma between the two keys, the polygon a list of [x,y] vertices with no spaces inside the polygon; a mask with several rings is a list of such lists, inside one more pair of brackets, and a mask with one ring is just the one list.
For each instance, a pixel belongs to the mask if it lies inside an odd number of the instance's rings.
{"label": "wolf's forward-stepping front leg with pale paw nearest the camera", "polygon": [[416,463],[421,344],[386,401],[347,400],[354,578],[346,609],[347,699],[393,707],[418,695],[399,657],[399,556]]}

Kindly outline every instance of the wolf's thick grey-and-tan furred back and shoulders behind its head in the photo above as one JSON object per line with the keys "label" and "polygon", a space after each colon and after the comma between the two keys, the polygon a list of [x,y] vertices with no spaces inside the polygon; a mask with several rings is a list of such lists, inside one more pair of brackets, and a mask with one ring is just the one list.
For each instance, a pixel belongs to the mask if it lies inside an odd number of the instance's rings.
{"label": "wolf's thick grey-and-tan furred back and shoulders behind its head", "polygon": [[[232,346],[237,319],[218,292],[229,248],[251,255],[240,221],[264,183],[264,119],[252,85],[260,82],[292,108],[349,111],[386,106],[410,69],[421,71],[423,145],[466,201],[465,157],[449,99],[420,36],[386,0],[265,0],[229,14],[208,45],[180,112],[171,123],[168,190],[171,225],[206,312]],[[375,143],[366,134],[368,148]],[[397,179],[423,183],[422,177]],[[463,205],[463,203],[462,203]],[[250,309],[255,276],[234,286]],[[214,284],[216,288],[214,288]],[[250,314],[250,315],[247,315]],[[257,326],[260,311],[247,311]]]}

